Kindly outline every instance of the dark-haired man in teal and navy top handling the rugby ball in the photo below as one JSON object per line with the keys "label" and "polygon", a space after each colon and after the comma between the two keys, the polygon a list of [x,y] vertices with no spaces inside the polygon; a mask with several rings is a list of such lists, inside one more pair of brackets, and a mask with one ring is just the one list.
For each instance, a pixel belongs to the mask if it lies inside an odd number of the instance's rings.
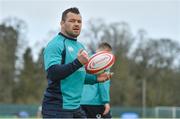
{"label": "dark-haired man in teal and navy top handling the rugby ball", "polygon": [[83,67],[88,62],[84,47],[77,41],[82,19],[77,8],[69,8],[62,14],[61,31],[44,50],[44,65],[48,87],[42,103],[43,118],[85,118],[80,108],[84,83],[104,82],[107,75],[86,74]]}

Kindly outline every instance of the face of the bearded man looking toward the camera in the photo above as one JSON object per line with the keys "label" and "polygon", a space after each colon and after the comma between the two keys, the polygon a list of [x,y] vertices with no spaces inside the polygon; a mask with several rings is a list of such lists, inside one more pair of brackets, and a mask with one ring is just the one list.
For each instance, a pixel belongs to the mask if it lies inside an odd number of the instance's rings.
{"label": "face of the bearded man looking toward the camera", "polygon": [[65,21],[61,21],[61,31],[64,35],[71,38],[77,38],[81,32],[82,19],[80,14],[69,12]]}

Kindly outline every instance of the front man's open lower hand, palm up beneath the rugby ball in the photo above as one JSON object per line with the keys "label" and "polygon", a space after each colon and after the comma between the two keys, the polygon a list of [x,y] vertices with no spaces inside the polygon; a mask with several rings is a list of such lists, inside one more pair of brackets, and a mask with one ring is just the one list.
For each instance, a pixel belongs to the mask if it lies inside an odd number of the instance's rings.
{"label": "front man's open lower hand, palm up beneath the rugby ball", "polygon": [[109,80],[113,74],[114,74],[113,72],[104,72],[97,76],[97,80],[98,80],[98,82],[105,82],[105,81]]}

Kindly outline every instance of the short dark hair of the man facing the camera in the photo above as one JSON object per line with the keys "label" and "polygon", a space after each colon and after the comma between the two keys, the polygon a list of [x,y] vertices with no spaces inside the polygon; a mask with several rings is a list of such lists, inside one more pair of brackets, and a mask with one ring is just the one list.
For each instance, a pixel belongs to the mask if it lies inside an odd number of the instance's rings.
{"label": "short dark hair of the man facing the camera", "polygon": [[79,9],[76,8],[76,7],[72,7],[72,8],[66,9],[66,10],[62,13],[62,18],[61,18],[62,21],[65,21],[65,20],[66,20],[66,15],[67,15],[69,12],[75,13],[75,14],[80,14]]}

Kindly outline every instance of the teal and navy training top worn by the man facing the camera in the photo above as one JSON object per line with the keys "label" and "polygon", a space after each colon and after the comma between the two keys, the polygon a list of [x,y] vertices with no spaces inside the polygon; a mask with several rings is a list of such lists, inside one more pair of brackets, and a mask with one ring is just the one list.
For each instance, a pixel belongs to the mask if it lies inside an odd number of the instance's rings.
{"label": "teal and navy training top worn by the man facing the camera", "polygon": [[[77,59],[83,45],[59,33],[44,50],[44,65],[48,87],[44,93],[43,109],[77,109],[80,107],[84,83],[97,83],[95,75],[87,74]],[[65,57],[62,53],[65,50]],[[64,60],[64,63],[62,61]]]}

